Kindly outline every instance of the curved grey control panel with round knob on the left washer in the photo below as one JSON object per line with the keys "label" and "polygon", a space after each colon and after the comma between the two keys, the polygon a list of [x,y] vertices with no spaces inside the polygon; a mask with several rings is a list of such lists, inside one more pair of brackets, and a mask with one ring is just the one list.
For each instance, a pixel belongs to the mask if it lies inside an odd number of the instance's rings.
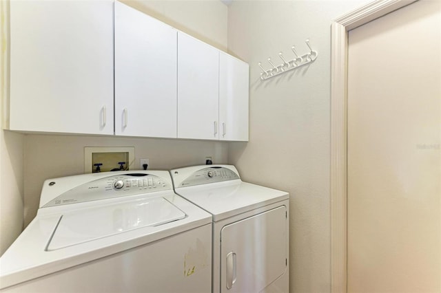
{"label": "curved grey control panel with round knob on the left washer", "polygon": [[[55,185],[57,182],[50,182],[49,185],[51,184]],[[156,175],[146,173],[114,175],[76,186],[55,197],[43,207],[172,190],[172,184]]]}

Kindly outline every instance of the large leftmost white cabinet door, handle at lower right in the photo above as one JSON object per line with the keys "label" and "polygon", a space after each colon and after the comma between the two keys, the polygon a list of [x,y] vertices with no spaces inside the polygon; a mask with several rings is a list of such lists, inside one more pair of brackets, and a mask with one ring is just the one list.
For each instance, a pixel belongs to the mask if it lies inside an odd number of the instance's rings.
{"label": "large leftmost white cabinet door, handle at lower right", "polygon": [[10,124],[113,134],[112,1],[10,1]]}

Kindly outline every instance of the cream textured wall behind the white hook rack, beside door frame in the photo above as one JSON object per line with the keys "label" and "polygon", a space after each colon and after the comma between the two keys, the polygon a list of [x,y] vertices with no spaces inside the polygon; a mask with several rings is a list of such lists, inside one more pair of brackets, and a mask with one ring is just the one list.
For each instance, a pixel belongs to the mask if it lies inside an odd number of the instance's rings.
{"label": "cream textured wall behind the white hook rack, beside door frame", "polygon": [[[290,292],[330,291],[330,24],[368,1],[233,1],[229,53],[249,63],[249,142],[229,145],[243,180],[291,195]],[[260,80],[265,69],[308,52],[318,58]]]}

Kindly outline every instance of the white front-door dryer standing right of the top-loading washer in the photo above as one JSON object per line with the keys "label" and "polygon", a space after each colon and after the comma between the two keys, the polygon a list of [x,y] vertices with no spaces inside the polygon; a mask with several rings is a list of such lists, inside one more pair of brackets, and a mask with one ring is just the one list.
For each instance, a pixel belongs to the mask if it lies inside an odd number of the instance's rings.
{"label": "white front-door dryer standing right of the top-loading washer", "polygon": [[289,292],[289,194],[229,165],[171,173],[176,193],[213,215],[212,292]]}

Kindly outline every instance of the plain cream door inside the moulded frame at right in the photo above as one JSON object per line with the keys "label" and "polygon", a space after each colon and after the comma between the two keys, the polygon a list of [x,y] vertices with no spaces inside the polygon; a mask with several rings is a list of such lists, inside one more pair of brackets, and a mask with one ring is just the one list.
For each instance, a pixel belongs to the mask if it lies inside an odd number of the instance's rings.
{"label": "plain cream door inside the moulded frame at right", "polygon": [[347,292],[441,292],[440,6],[349,32]]}

